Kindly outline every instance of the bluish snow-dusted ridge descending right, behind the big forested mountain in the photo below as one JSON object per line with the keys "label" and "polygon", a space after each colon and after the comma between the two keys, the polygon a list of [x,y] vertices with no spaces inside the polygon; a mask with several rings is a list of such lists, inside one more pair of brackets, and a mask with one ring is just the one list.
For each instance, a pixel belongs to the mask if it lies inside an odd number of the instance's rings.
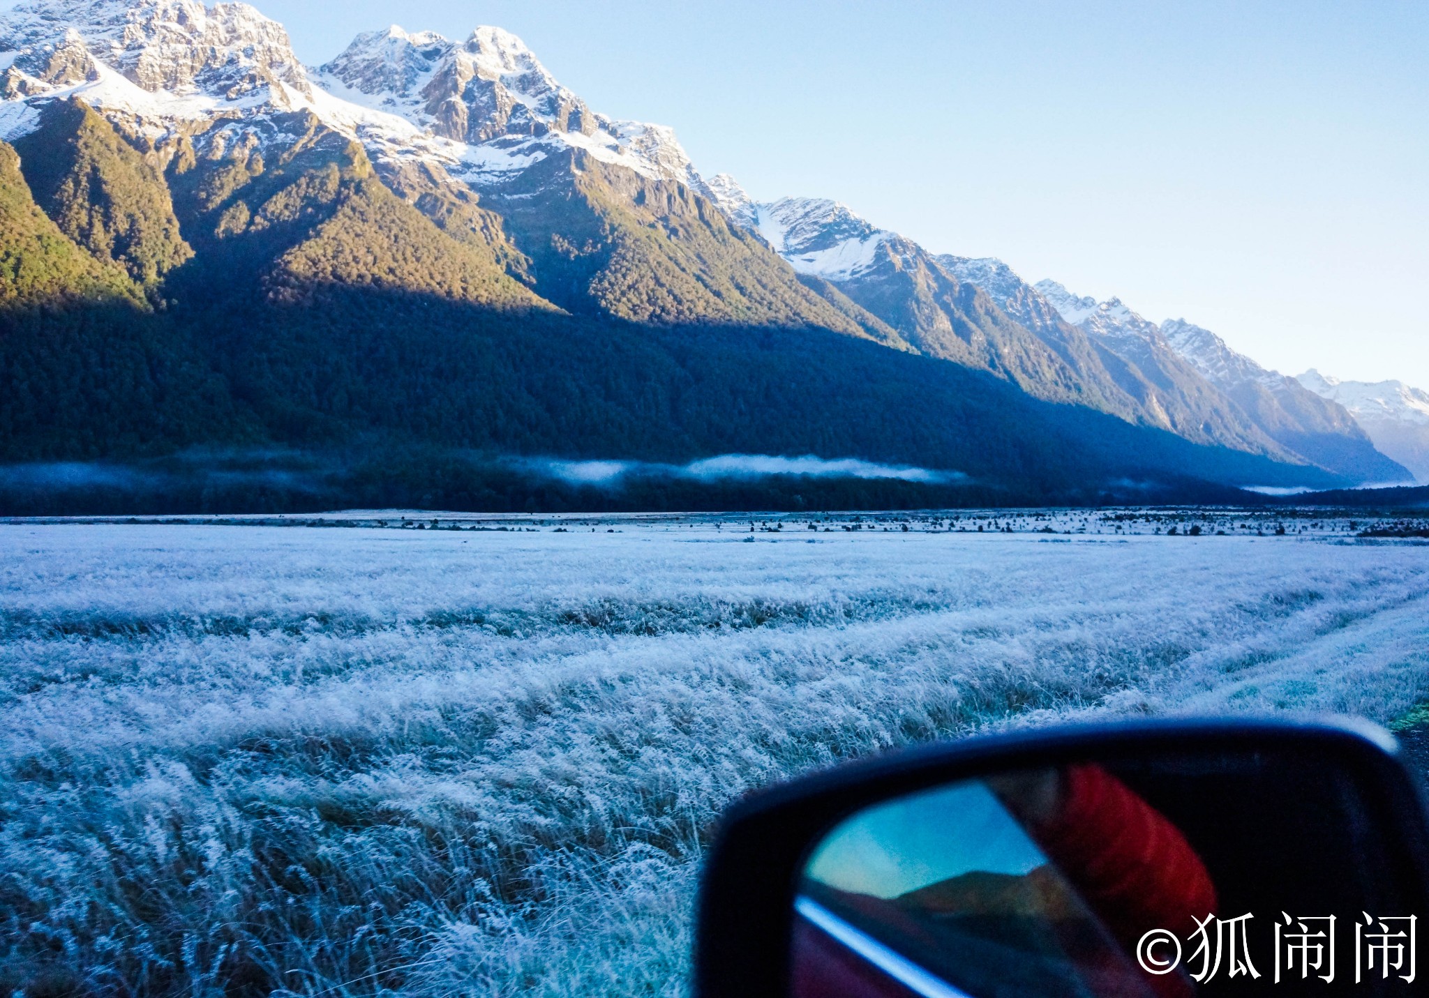
{"label": "bluish snow-dusted ridge descending right, behind the big forested mountain", "polygon": [[[1029,348],[1029,337],[1020,337],[1012,350],[1055,354],[1047,380],[1060,378],[1083,404],[1187,440],[1299,455],[1360,481],[1406,474],[1376,453],[1348,413],[1199,327],[1160,327],[1119,300],[1097,303],[1056,281],[1033,287],[996,258],[932,256],[827,198],[755,203],[729,176],[713,178],[710,188],[733,221],[757,231],[795,270],[833,283],[925,353],[989,370],[1003,363],[997,350],[979,357],[937,338],[939,320],[953,328],[960,318],[953,303],[962,293],[943,288],[973,287],[1040,341]],[[1027,390],[1059,397],[1045,384]]]}

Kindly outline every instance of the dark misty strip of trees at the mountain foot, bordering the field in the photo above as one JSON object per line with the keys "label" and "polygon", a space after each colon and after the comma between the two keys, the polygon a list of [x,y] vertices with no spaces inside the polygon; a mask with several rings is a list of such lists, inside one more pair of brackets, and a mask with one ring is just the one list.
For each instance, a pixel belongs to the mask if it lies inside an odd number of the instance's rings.
{"label": "dark misty strip of trees at the mountain foot, bordering the field", "polygon": [[560,478],[540,461],[394,441],[343,450],[193,450],[131,463],[33,464],[0,474],[0,515],[200,515],[416,508],[456,513],[717,513],[1232,503],[1190,480],[1155,490],[1050,493],[985,483],[772,475],[699,480],[636,467],[603,484]]}

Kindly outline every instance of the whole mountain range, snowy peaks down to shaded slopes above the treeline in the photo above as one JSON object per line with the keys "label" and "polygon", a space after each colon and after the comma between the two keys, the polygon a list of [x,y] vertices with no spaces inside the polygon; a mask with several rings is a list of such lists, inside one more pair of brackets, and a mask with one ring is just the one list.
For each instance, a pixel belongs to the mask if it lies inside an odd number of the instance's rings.
{"label": "whole mountain range, snowy peaks down to shaded slopes above the treeline", "polygon": [[706,181],[496,27],[307,69],[244,4],[31,0],[0,97],[0,460],[362,437],[1026,497],[1365,480],[996,261]]}

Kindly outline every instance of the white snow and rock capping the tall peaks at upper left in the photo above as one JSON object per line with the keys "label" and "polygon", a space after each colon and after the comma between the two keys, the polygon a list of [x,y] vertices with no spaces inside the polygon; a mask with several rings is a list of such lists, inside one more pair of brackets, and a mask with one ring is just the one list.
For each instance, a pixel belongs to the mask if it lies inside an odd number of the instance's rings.
{"label": "white snow and rock capping the tall peaks at upper left", "polygon": [[242,3],[29,0],[0,14],[0,138],[71,96],[156,146],[210,120],[224,124],[201,141],[280,141],[266,119],[306,110],[379,163],[426,161],[472,184],[582,148],[707,193],[670,128],[590,111],[497,27],[464,43],[392,27],[309,70],[282,24]]}

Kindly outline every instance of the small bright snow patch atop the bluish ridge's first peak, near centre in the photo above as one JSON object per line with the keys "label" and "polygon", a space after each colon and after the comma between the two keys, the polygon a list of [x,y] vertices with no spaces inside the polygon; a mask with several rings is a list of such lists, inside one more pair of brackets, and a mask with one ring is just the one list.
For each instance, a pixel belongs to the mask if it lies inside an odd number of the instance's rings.
{"label": "small bright snow patch atop the bluish ridge's first peak, near centre", "polygon": [[755,228],[800,274],[843,281],[869,270],[877,248],[899,238],[820,197],[756,204]]}

